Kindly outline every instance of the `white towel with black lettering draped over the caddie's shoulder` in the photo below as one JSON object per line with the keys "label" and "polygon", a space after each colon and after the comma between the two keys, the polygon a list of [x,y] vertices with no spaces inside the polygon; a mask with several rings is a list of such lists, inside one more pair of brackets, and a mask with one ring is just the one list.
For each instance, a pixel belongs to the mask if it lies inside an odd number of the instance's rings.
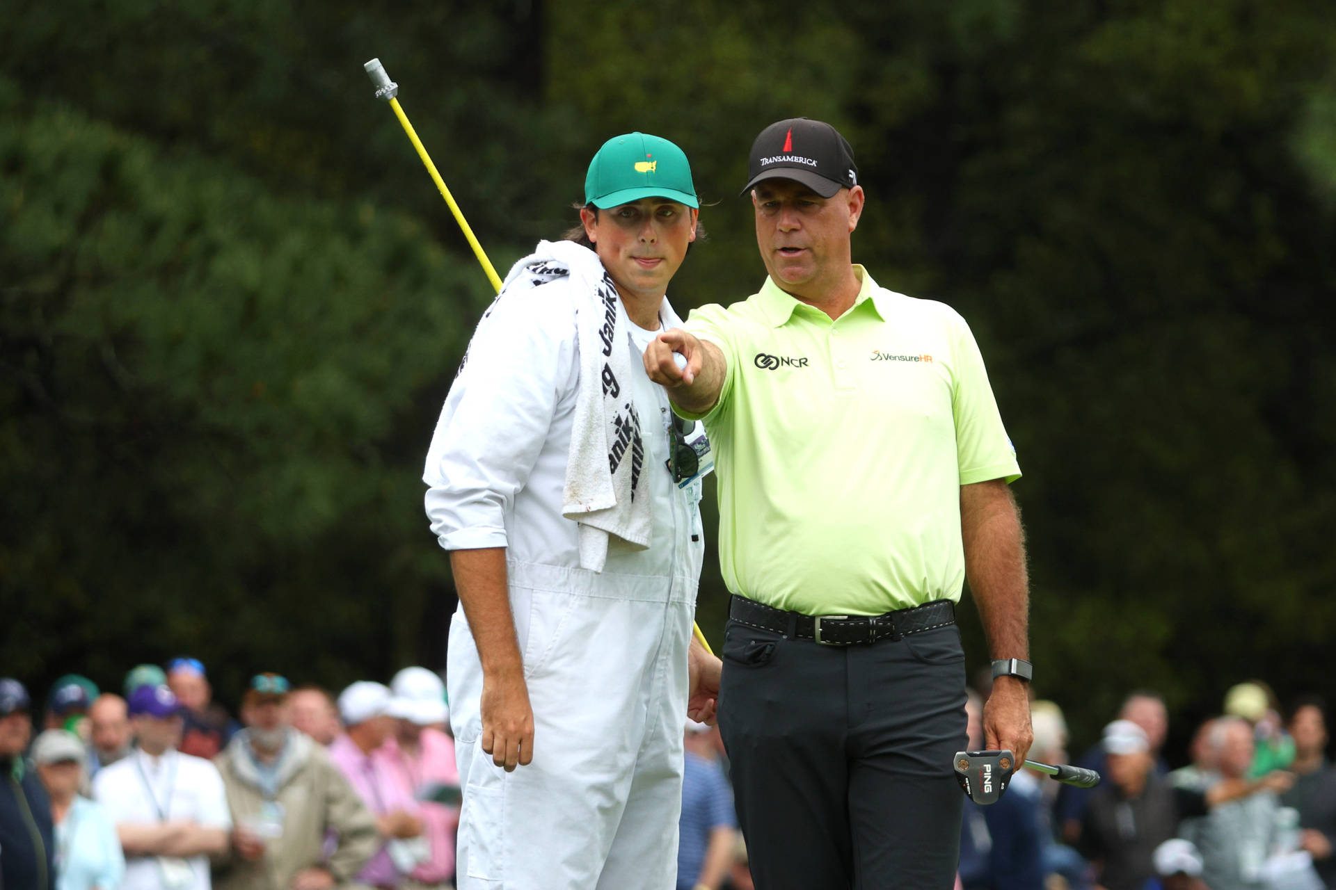
{"label": "white towel with black lettering draped over the caddie's shoulder", "polygon": [[510,267],[501,296],[562,278],[570,279],[576,300],[580,391],[561,515],[580,523],[580,566],[603,571],[608,535],[649,546],[652,498],[632,396],[631,320],[599,255],[574,242],[538,242],[532,255]]}

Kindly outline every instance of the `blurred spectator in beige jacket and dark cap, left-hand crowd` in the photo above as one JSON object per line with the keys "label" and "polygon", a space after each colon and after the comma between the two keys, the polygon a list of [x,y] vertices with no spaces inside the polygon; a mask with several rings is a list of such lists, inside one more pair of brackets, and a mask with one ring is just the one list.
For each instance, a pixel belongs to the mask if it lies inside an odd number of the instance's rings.
{"label": "blurred spectator in beige jacket and dark cap, left-hand crowd", "polygon": [[[375,821],[325,747],[291,727],[289,682],[251,678],[242,722],[215,765],[231,811],[231,855],[219,890],[325,890],[351,881],[375,853]],[[334,838],[326,857],[326,837]]]}

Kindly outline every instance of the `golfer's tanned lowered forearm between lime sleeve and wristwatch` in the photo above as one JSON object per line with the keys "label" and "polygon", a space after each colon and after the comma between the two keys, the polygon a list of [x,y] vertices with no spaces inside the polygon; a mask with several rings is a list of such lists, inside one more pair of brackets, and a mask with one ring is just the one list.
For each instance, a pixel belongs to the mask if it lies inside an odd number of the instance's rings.
{"label": "golfer's tanned lowered forearm between lime sleeve and wristwatch", "polygon": [[961,486],[965,572],[990,658],[1029,658],[1029,579],[1021,512],[999,479]]}

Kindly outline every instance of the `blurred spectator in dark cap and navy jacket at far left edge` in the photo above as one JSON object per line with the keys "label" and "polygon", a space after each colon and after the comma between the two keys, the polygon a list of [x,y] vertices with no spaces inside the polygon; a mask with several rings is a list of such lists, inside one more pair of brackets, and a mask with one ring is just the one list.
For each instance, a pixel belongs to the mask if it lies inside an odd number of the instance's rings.
{"label": "blurred spectator in dark cap and navy jacket at far left edge", "polygon": [[51,801],[23,759],[32,738],[31,709],[23,683],[0,678],[0,887],[52,890]]}

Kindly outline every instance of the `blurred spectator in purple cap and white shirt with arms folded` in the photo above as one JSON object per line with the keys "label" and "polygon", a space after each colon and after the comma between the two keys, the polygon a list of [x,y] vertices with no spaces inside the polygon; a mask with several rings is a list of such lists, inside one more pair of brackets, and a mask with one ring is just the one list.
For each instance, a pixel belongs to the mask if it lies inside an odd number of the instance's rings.
{"label": "blurred spectator in purple cap and white shirt with arms folded", "polygon": [[123,890],[210,890],[208,858],[227,851],[232,821],[218,769],[176,750],[182,715],[166,686],[127,702],[136,750],[94,779],[126,851]]}

